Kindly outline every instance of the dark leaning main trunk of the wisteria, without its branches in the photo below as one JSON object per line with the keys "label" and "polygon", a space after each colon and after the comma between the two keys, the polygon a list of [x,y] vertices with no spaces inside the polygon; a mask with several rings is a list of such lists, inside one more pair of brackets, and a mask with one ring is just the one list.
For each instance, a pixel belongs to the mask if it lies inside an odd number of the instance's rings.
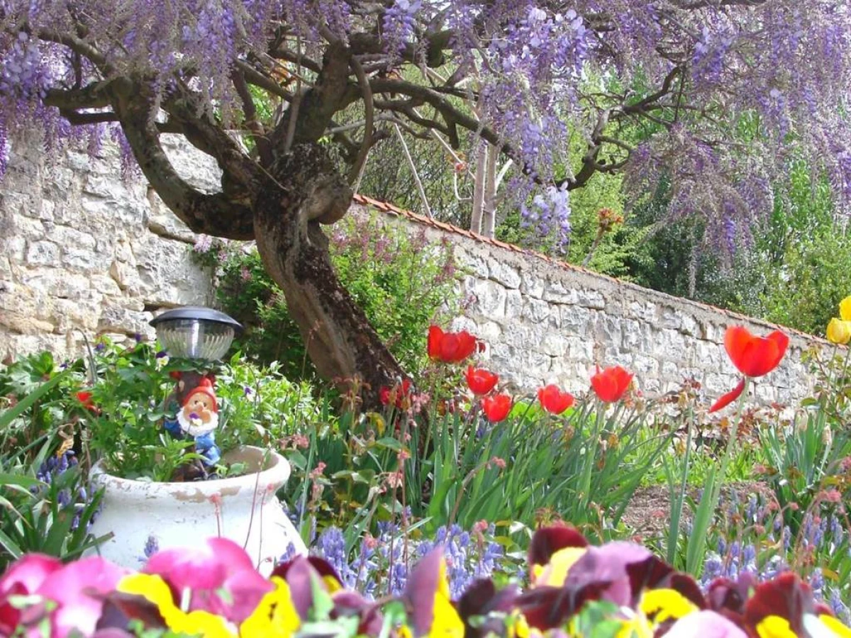
{"label": "dark leaning main trunk of the wisteria, without its branches", "polygon": [[367,317],[340,284],[319,227],[346,214],[351,190],[319,145],[296,145],[272,166],[254,202],[260,258],[287,299],[307,352],[327,379],[358,379],[374,405],[381,385],[403,376]]}

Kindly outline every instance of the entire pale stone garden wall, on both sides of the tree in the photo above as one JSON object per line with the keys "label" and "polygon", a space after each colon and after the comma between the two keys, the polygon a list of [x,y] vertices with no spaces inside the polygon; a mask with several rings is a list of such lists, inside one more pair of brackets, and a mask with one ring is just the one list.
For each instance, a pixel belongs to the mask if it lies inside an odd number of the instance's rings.
{"label": "entire pale stone garden wall, on both sides of the tree", "polygon": [[[219,174],[207,157],[174,144],[167,150],[186,179],[217,189]],[[354,212],[365,205],[386,212],[388,223],[426,225],[435,239],[448,234],[470,300],[454,328],[485,339],[488,366],[524,390],[550,382],[585,390],[596,364],[621,364],[650,394],[694,378],[718,396],[738,379],[722,346],[725,328],[773,328],[367,197],[356,197]],[[95,161],[15,145],[0,182],[0,357],[43,349],[77,354],[83,333],[151,335],[147,322],[157,310],[209,304],[209,273],[190,259],[194,240],[140,180],[122,181],[114,145]],[[809,390],[800,354],[817,339],[791,339],[790,356],[757,384],[761,402],[792,403]]]}

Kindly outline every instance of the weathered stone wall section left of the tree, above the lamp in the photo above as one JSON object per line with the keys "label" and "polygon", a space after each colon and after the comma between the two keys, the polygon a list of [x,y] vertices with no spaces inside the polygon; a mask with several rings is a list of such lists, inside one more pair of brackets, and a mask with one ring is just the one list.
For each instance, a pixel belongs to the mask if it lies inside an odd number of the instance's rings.
{"label": "weathered stone wall section left of the tree, above the lamp", "polygon": [[[209,162],[167,150],[186,179],[216,188]],[[143,180],[123,182],[116,145],[93,160],[15,140],[0,182],[0,358],[79,354],[83,333],[150,336],[158,309],[208,302],[210,277],[191,262],[193,241]]]}

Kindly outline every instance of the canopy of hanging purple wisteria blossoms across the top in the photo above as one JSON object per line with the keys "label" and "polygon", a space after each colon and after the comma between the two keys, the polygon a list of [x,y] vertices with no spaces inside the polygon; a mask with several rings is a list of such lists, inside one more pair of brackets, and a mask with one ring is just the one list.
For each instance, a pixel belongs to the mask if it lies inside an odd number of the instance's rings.
{"label": "canopy of hanging purple wisteria blossoms across the top", "polygon": [[[325,130],[271,139],[317,140],[362,100],[455,145],[467,129],[514,160],[526,223],[562,240],[568,191],[623,169],[637,193],[670,180],[670,214],[702,216],[733,249],[773,207],[791,141],[851,202],[851,9],[836,0],[3,0],[0,174],[22,128],[38,124],[54,148],[69,122],[119,126],[106,89],[120,77],[191,90],[220,127],[262,138],[326,88],[334,47],[351,56],[354,97],[317,111]],[[258,123],[247,95],[280,105],[273,121]],[[626,139],[636,122],[641,139]]]}

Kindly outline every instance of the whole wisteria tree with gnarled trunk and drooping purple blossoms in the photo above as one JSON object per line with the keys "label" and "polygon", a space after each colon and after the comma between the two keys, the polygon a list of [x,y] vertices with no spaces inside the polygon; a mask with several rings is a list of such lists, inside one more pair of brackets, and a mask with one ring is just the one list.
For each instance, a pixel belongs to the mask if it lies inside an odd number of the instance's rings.
{"label": "whole wisteria tree with gnarled trunk and drooping purple blossoms", "polygon": [[[321,225],[388,127],[488,141],[546,232],[569,231],[569,191],[625,170],[746,241],[791,142],[851,196],[845,0],[2,0],[0,51],[3,157],[16,129],[114,127],[193,231],[257,242],[317,369],[374,389],[403,371]],[[220,192],[180,178],[164,133],[214,157]]]}

